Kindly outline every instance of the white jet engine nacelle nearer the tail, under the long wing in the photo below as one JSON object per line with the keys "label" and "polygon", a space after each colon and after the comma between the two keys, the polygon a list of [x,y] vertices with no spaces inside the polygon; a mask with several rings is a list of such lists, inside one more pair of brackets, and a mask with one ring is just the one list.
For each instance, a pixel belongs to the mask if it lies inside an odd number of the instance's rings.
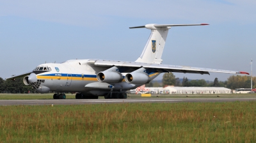
{"label": "white jet engine nacelle nearer the tail, under the long wing", "polygon": [[150,80],[150,77],[145,73],[127,73],[125,81],[129,84],[145,84]]}

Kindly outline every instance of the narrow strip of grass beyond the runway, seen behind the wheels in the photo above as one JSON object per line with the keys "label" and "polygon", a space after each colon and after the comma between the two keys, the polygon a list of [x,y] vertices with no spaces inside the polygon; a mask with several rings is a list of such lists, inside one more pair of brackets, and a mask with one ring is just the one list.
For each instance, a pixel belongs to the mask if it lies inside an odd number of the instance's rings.
{"label": "narrow strip of grass beyond the runway, seen behind the wheels", "polygon": [[[0,100],[52,100],[51,94],[0,94]],[[141,94],[128,94],[131,99],[138,98],[217,98],[219,95],[221,98],[246,98],[246,97],[256,97],[254,94],[152,94],[151,97],[141,97]],[[66,94],[67,99],[76,99],[75,94]],[[104,97],[99,97],[99,99],[104,99]]]}

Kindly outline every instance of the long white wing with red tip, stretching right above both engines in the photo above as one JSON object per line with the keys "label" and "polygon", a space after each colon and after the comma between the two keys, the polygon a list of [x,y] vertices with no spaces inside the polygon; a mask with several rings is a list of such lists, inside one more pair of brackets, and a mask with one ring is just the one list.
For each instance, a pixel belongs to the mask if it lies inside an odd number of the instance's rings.
{"label": "long white wing with red tip, stretching right above both engines", "polygon": [[191,66],[175,66],[169,64],[149,64],[149,63],[138,63],[138,62],[127,62],[127,61],[108,61],[108,60],[89,60],[88,64],[93,64],[95,66],[117,66],[117,67],[126,67],[126,68],[152,68],[157,70],[157,72],[177,72],[177,73],[199,73],[199,74],[209,74],[209,72],[215,73],[241,73],[247,74],[247,72],[237,72],[237,71],[230,71],[230,70],[217,70],[211,68],[196,68]]}

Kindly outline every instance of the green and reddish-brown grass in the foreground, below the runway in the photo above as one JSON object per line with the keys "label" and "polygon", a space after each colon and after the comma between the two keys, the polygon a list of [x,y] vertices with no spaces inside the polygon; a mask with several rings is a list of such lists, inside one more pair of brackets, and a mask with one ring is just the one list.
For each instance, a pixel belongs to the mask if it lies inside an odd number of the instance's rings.
{"label": "green and reddish-brown grass in the foreground, below the runway", "polygon": [[0,107],[0,142],[255,142],[256,102]]}

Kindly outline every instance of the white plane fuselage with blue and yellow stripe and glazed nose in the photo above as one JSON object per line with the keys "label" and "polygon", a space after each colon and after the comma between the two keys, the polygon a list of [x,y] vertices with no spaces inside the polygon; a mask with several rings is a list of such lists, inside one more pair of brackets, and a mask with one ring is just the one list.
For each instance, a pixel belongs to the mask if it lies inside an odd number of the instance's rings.
{"label": "white plane fuselage with blue and yellow stripe and glazed nose", "polygon": [[[88,64],[88,59],[75,59],[69,60],[65,63],[46,63],[40,64],[39,66],[47,66],[51,70],[36,71],[37,82],[31,84],[36,91],[40,93],[47,93],[49,91],[57,92],[74,92],[74,93],[84,93],[92,94],[95,96],[104,96],[104,94],[112,91],[127,91],[129,89],[135,89],[143,84],[129,84],[122,80],[117,83],[104,83],[97,80],[97,73],[104,70],[108,70],[109,67],[94,66]],[[38,66],[38,67],[39,67]],[[42,72],[42,73],[40,73]],[[150,75],[150,80],[157,77],[159,73]],[[125,73],[122,73],[125,76]],[[90,87],[86,85],[97,82]],[[37,85],[37,86],[36,86]],[[104,88],[102,86],[111,85],[113,88]]]}

